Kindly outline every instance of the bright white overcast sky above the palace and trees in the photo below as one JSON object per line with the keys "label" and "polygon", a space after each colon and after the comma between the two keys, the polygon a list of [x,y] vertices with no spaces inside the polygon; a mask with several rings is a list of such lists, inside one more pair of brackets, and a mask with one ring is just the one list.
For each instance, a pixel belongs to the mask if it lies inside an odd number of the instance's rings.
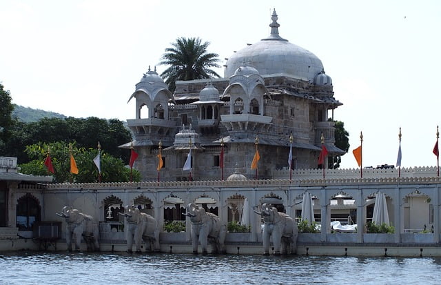
{"label": "bright white overcast sky above the palace and trees", "polygon": [[[343,168],[435,166],[441,122],[441,1],[0,1],[0,82],[14,104],[73,117],[134,119],[127,100],[178,37],[201,37],[222,59],[269,35],[321,59],[344,105]],[[165,66],[158,66],[161,73]],[[223,75],[223,69],[217,70]]]}

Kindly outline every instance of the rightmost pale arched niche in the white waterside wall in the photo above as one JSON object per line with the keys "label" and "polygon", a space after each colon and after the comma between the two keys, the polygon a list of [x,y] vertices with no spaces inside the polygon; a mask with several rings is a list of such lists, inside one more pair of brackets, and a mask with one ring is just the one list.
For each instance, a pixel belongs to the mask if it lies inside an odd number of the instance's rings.
{"label": "rightmost pale arched niche in the white waterside wall", "polygon": [[420,233],[423,230],[432,230],[433,204],[431,197],[420,190],[404,196],[402,201],[404,228],[403,233]]}

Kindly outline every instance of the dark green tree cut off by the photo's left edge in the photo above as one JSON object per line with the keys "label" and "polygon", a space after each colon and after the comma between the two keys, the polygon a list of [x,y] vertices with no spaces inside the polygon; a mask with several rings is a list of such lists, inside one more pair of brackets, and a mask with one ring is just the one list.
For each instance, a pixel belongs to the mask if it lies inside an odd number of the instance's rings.
{"label": "dark green tree cut off by the photo's left edge", "polygon": [[14,106],[11,101],[10,92],[4,90],[3,85],[0,83],[0,153],[4,152],[4,146],[11,137],[10,128],[14,123],[12,120]]}

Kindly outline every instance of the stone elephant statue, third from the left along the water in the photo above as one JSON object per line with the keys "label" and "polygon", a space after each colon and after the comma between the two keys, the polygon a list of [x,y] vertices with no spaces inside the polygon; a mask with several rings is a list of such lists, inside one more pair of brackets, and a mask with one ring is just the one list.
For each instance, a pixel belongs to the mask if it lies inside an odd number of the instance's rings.
{"label": "stone elephant statue, third from the left along the water", "polygon": [[225,253],[225,235],[227,226],[220,222],[218,216],[206,213],[204,208],[188,204],[186,213],[192,222],[193,253],[198,254],[198,244],[201,243],[202,253],[207,254],[208,239],[214,244],[216,253]]}

